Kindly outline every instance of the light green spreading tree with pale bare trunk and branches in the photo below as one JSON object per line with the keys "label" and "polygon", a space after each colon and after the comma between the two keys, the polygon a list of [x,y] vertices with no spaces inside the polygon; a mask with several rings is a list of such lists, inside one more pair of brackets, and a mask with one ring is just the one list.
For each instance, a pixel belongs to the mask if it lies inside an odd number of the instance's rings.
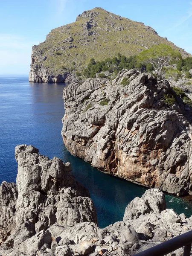
{"label": "light green spreading tree with pale bare trunk and branches", "polygon": [[157,77],[161,76],[161,71],[169,61],[180,59],[180,52],[174,51],[166,44],[154,45],[148,50],[144,50],[137,56],[137,61],[143,64],[152,64]]}

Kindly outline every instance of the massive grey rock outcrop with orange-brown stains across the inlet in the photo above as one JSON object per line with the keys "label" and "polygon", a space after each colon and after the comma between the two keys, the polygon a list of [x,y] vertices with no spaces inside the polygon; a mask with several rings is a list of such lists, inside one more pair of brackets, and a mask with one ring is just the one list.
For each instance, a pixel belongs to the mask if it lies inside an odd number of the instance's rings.
{"label": "massive grey rock outcrop with orange-brown stains across the inlet", "polygon": [[71,154],[117,177],[191,194],[192,111],[168,81],[122,70],[113,81],[71,83],[63,97]]}

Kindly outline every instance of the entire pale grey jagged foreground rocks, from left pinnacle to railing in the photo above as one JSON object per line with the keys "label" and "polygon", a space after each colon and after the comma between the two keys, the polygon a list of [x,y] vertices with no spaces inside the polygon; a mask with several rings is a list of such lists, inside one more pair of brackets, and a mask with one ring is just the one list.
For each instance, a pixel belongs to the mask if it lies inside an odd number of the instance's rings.
{"label": "entire pale grey jagged foreground rocks, from left pinnacle to railing", "polygon": [[27,145],[15,148],[15,158],[17,184],[0,186],[2,256],[131,256],[192,228],[192,218],[166,209],[163,192],[149,189],[128,204],[123,221],[101,229],[70,163]]}

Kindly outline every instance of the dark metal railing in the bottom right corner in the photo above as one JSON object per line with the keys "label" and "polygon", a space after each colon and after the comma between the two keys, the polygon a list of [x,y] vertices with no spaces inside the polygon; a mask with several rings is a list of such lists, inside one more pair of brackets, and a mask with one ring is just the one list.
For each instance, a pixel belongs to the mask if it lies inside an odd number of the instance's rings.
{"label": "dark metal railing in the bottom right corner", "polygon": [[183,256],[190,256],[192,245],[192,231],[176,236],[166,242],[155,245],[135,256],[164,256],[184,246]]}

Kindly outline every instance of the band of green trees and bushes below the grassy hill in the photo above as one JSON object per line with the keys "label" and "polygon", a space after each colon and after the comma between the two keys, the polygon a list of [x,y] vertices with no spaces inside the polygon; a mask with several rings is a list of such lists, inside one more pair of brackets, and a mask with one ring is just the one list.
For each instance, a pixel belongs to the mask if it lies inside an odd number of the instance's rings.
{"label": "band of green trees and bushes below the grassy hill", "polygon": [[[97,62],[94,58],[91,58],[81,75],[85,78],[94,78],[97,74],[100,78],[111,79],[120,70],[130,70],[132,68],[150,72],[158,78],[178,81],[182,76],[191,78],[189,70],[192,69],[192,57],[188,57],[185,60],[178,51],[174,51],[165,44],[160,44],[141,52],[137,56],[126,57],[118,53],[116,57],[106,58]],[[76,75],[80,76],[80,73],[77,72]],[[126,86],[128,82],[122,81],[122,85]]]}

